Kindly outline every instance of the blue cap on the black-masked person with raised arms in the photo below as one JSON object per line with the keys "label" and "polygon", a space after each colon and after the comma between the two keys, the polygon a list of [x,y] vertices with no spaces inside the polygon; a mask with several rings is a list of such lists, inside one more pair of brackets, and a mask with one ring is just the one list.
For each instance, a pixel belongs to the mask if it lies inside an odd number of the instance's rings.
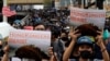
{"label": "blue cap on the black-masked person with raised arms", "polygon": [[77,39],[77,45],[92,45],[94,41],[89,36],[81,36]]}

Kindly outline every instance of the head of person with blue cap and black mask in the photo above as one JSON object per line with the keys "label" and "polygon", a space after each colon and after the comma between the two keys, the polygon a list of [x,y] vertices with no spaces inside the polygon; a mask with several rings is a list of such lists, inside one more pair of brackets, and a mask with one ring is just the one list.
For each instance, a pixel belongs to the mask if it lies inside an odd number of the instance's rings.
{"label": "head of person with blue cap and black mask", "polygon": [[94,53],[94,42],[89,36],[81,36],[77,39],[78,53],[82,59],[90,59]]}

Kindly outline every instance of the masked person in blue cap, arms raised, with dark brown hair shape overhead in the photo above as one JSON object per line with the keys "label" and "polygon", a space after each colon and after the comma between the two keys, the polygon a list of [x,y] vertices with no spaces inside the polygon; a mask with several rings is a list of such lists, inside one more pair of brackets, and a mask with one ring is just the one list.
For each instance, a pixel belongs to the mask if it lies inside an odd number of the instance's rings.
{"label": "masked person in blue cap, arms raised, with dark brown hair shape overhead", "polygon": [[[81,27],[81,28],[80,28]],[[91,30],[91,28],[94,28]],[[68,48],[64,52],[63,61],[68,61],[72,54],[72,50],[75,47],[75,44],[78,45],[78,59],[79,61],[88,61],[88,60],[97,60],[94,54],[94,45],[97,45],[101,49],[102,60],[109,61],[109,54],[107,52],[106,46],[102,39],[102,32],[98,30],[98,28],[90,24],[80,25],[76,28],[76,30],[70,32],[69,36],[72,37],[72,42]],[[86,33],[85,33],[86,32]],[[85,34],[84,34],[85,33]],[[95,41],[95,44],[92,42]],[[95,52],[96,53],[96,52]],[[90,57],[89,57],[90,56]]]}

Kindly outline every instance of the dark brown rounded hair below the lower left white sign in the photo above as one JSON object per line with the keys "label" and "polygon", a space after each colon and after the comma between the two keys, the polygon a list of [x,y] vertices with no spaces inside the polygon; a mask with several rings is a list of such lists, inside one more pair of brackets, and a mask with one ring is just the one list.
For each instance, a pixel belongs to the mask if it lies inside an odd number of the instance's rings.
{"label": "dark brown rounded hair below the lower left white sign", "polygon": [[23,46],[15,51],[15,57],[42,61],[41,50],[33,46]]}

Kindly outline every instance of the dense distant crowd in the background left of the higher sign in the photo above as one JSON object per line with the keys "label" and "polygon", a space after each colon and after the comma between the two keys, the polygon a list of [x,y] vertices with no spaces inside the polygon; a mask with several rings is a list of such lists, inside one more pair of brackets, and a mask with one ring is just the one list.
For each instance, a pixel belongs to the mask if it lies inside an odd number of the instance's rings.
{"label": "dense distant crowd in the background left of the higher sign", "polygon": [[36,23],[43,23],[45,26],[65,26],[67,25],[69,10],[45,9],[45,10],[29,10],[28,15],[13,22],[13,26],[23,28],[23,26],[34,26]]}

